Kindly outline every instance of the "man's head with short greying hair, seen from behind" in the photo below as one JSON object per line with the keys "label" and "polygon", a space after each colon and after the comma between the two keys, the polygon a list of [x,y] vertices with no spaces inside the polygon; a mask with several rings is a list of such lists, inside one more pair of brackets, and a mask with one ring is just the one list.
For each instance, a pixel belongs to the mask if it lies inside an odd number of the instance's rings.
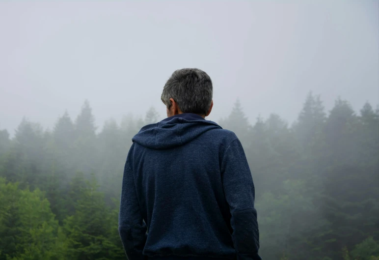
{"label": "man's head with short greying hair, seen from behind", "polygon": [[208,116],[213,107],[211,78],[200,69],[178,69],[163,87],[167,116],[193,113]]}

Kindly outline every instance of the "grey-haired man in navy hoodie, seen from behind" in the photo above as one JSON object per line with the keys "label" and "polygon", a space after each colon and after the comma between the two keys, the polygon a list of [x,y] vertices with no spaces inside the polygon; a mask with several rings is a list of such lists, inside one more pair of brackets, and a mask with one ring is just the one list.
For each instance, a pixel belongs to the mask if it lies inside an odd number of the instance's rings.
{"label": "grey-haired man in navy hoodie, seen from behind", "polygon": [[129,260],[261,259],[249,166],[236,135],[205,120],[212,94],[204,71],[175,71],[168,117],[133,137],[119,214]]}

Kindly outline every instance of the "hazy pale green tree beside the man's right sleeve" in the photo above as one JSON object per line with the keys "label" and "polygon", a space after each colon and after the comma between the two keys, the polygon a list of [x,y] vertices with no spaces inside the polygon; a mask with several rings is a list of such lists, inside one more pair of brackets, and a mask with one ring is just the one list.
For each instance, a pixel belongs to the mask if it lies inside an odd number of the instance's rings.
{"label": "hazy pale green tree beside the man's right sleeve", "polygon": [[265,192],[256,202],[261,256],[279,259],[285,253],[289,259],[317,259],[316,252],[309,255],[312,241],[304,233],[320,228],[312,195],[301,180],[286,180],[281,185],[280,195]]}

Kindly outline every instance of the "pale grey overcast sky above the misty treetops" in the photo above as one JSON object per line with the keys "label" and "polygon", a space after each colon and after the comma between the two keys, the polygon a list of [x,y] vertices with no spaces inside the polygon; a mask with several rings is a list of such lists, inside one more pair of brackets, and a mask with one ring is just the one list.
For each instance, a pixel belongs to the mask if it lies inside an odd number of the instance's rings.
{"label": "pale grey overcast sky above the misty treetops", "polygon": [[[278,1],[279,2],[279,1]],[[252,123],[295,120],[307,92],[327,110],[379,103],[378,0],[0,3],[0,129],[23,116],[52,127],[88,99],[97,125],[144,115],[172,72],[206,71],[214,110],[236,98]]]}

